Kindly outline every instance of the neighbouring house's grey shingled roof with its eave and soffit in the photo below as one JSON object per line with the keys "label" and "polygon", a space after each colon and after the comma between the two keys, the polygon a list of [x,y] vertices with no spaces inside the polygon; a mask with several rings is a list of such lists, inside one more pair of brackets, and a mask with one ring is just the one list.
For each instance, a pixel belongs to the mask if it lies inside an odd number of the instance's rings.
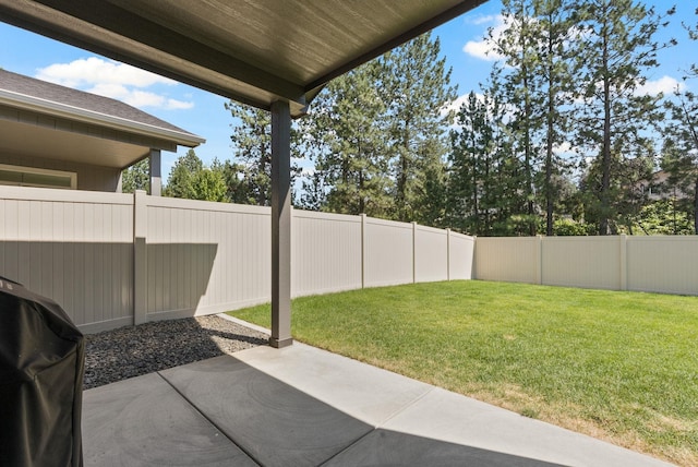
{"label": "neighbouring house's grey shingled roof with its eave and soffit", "polygon": [[124,168],[205,140],[122,101],[0,70],[0,149]]}

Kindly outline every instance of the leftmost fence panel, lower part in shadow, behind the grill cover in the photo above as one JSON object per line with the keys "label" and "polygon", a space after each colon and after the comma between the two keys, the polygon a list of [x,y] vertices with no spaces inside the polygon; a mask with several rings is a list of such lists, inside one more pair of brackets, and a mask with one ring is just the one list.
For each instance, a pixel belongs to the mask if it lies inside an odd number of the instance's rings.
{"label": "leftmost fence panel, lower part in shadow, behind the grill cover", "polygon": [[130,324],[132,200],[0,187],[0,275],[53,299],[85,331]]}

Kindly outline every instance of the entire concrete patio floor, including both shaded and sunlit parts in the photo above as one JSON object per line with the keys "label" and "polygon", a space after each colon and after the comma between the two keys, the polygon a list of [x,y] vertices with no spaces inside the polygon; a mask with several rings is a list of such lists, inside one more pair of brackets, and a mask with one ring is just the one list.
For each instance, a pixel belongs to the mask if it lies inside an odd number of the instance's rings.
{"label": "entire concrete patio floor, including both shaded and sunlit parts", "polygon": [[669,465],[299,343],[86,391],[83,442],[87,466]]}

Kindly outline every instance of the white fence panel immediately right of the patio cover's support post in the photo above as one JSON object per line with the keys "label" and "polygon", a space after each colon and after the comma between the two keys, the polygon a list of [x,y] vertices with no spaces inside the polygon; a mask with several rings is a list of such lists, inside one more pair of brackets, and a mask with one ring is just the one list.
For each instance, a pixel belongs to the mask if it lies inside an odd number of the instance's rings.
{"label": "white fence panel immediately right of the patio cover's support post", "polygon": [[361,288],[361,217],[293,209],[293,297]]}

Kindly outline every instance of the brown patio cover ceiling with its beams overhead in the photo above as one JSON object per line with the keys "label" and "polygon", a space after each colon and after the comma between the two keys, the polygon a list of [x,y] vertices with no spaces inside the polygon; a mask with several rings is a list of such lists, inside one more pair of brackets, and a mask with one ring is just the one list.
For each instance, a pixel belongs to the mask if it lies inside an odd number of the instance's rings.
{"label": "brown patio cover ceiling with its beams overhead", "polygon": [[303,115],[322,86],[485,0],[0,0],[0,20]]}

